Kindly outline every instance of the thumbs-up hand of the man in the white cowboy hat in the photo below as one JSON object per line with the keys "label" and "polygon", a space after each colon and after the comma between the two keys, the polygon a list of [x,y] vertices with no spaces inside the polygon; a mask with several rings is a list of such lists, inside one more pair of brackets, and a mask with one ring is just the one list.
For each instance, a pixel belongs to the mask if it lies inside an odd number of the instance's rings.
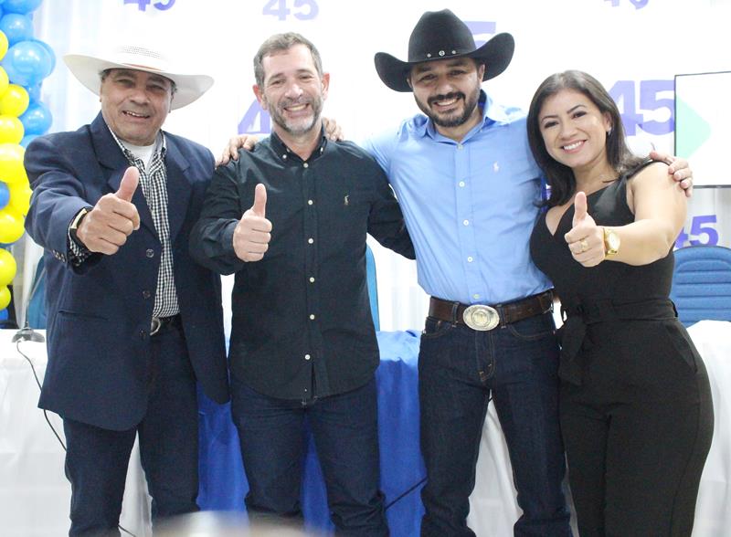
{"label": "thumbs-up hand of the man in the white cowboy hat", "polygon": [[140,215],[132,204],[132,195],[139,182],[139,170],[130,166],[122,176],[119,190],[101,196],[82,217],[76,237],[90,251],[111,256],[127,242],[132,231],[140,228]]}

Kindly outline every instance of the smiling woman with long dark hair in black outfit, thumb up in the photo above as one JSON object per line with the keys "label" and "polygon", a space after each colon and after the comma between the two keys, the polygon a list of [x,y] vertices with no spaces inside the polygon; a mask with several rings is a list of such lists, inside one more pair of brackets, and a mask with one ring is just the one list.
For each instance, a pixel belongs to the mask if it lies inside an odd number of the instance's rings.
{"label": "smiling woman with long dark hair in black outfit, thumb up", "polygon": [[669,300],[685,195],[666,164],[630,153],[586,73],[546,79],[527,129],[550,186],[531,254],[566,316],[560,415],[579,533],[689,536],[713,406]]}

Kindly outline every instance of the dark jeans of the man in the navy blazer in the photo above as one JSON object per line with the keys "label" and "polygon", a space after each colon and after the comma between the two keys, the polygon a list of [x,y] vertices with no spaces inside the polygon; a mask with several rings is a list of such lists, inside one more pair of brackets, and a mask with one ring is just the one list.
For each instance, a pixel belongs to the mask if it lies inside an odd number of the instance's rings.
{"label": "dark jeans of the man in the navy blazer", "polygon": [[152,350],[147,413],[138,426],[112,431],[64,419],[69,535],[120,534],[124,482],[138,433],[153,521],[198,509],[196,375],[185,336],[177,328],[165,329],[154,336]]}

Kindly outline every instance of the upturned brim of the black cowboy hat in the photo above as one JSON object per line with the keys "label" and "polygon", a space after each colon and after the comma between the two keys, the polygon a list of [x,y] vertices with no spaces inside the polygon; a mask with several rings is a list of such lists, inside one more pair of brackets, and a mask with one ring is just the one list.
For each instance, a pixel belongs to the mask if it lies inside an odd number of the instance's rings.
{"label": "upturned brim of the black cowboy hat", "polygon": [[424,61],[437,61],[440,59],[472,58],[484,64],[485,74],[482,81],[494,79],[501,74],[513,59],[515,40],[512,35],[502,33],[495,35],[482,47],[475,48],[467,54],[457,54],[449,57],[437,57],[419,61],[402,61],[394,58],[386,52],[378,52],[374,61],[378,76],[388,88],[394,91],[411,91],[408,85],[408,76],[411,68]]}

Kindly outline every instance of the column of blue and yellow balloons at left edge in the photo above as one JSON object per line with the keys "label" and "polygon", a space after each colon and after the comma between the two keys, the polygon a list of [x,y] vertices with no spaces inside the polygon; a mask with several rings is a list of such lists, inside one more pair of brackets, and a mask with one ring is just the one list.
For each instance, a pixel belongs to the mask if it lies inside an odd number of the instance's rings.
{"label": "column of blue and yellow balloons at left edge", "polygon": [[31,195],[23,154],[52,121],[40,87],[56,57],[33,37],[33,12],[42,1],[0,0],[0,321],[8,318],[8,285],[17,270],[9,247],[23,236]]}

